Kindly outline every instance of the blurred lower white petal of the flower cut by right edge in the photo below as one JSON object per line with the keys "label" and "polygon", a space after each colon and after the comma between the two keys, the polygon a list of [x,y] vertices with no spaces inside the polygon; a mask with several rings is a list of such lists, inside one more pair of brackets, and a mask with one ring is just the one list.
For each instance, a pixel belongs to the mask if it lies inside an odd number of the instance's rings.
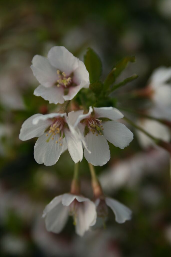
{"label": "blurred lower white petal of the flower cut by right edge", "polygon": [[153,101],[158,105],[171,107],[171,86],[161,85],[156,90],[154,90]]}

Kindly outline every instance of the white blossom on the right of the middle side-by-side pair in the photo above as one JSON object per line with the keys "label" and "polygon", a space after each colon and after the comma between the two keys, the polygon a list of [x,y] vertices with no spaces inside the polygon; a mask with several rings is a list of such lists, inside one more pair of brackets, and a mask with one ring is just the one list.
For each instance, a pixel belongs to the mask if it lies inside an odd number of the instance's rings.
{"label": "white blossom on the right of the middle side-by-side pair", "polygon": [[107,140],[123,149],[133,140],[133,133],[122,123],[115,120],[123,118],[123,114],[113,107],[89,107],[89,112],[83,110],[68,113],[68,120],[78,127],[85,135],[87,149],[84,156],[94,166],[103,166],[110,159]]}

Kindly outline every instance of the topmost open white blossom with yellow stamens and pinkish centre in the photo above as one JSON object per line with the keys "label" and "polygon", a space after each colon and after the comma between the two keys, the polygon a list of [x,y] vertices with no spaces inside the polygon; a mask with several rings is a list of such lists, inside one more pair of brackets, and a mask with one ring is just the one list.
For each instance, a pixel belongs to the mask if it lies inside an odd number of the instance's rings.
{"label": "topmost open white blossom with yellow stamens and pinkish centre", "polygon": [[35,55],[31,69],[41,84],[34,95],[43,97],[49,103],[63,104],[80,89],[89,86],[89,73],[84,63],[63,46],[52,47],[47,58]]}

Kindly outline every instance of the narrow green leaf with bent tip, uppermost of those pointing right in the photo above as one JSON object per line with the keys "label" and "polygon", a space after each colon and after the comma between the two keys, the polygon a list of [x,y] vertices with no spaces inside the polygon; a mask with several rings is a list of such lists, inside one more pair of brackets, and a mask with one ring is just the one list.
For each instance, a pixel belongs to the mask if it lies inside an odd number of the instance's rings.
{"label": "narrow green leaf with bent tip, uppermost of those pointing right", "polygon": [[104,86],[105,88],[108,88],[110,85],[112,85],[116,78],[120,75],[120,73],[126,68],[128,62],[135,62],[135,56],[128,56],[119,61],[116,66],[109,72],[107,75]]}

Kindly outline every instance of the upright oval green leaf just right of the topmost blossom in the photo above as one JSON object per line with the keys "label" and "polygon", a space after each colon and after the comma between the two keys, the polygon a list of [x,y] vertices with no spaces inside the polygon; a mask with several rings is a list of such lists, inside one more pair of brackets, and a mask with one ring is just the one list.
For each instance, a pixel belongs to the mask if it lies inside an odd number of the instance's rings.
{"label": "upright oval green leaf just right of the topmost blossom", "polygon": [[84,64],[89,72],[90,83],[99,80],[102,74],[102,62],[93,49],[87,49],[87,52],[84,56]]}

